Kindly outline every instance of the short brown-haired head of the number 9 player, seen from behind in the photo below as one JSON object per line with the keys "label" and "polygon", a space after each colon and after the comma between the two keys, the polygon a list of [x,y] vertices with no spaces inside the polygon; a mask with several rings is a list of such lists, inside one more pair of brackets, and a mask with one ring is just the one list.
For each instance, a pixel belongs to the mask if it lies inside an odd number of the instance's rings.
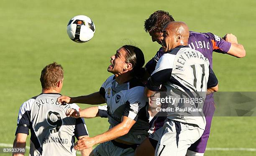
{"label": "short brown-haired head of the number 9 player, seen from behind", "polygon": [[60,92],[63,85],[63,78],[63,68],[60,64],[57,64],[56,62],[48,64],[41,71],[40,81],[42,89],[54,89]]}

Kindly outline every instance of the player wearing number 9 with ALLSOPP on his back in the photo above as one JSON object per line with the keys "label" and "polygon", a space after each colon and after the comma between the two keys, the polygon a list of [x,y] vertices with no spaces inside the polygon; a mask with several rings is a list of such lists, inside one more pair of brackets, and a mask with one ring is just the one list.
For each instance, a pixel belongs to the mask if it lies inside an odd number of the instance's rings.
{"label": "player wearing number 9 with ALLSOPP on his back", "polygon": [[[88,136],[84,120],[66,116],[67,109],[80,110],[77,104],[61,105],[57,98],[63,84],[61,65],[47,65],[41,72],[42,93],[20,106],[14,147],[25,147],[31,131],[29,155],[31,156],[76,156],[75,137]],[[88,156],[92,149],[82,151]]]}

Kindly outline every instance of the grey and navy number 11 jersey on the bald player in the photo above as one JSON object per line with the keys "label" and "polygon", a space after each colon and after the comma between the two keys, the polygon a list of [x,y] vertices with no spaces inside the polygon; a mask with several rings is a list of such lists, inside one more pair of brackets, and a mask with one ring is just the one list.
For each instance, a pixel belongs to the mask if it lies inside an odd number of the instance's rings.
{"label": "grey and navy number 11 jersey on the bald player", "polygon": [[[166,87],[167,98],[172,99],[171,102],[166,100],[170,108],[167,111],[169,119],[205,129],[202,108],[206,91],[218,84],[209,65],[209,60],[202,53],[188,46],[178,46],[159,59],[147,87],[153,91],[158,91],[161,84]],[[193,102],[195,99],[197,101]]]}

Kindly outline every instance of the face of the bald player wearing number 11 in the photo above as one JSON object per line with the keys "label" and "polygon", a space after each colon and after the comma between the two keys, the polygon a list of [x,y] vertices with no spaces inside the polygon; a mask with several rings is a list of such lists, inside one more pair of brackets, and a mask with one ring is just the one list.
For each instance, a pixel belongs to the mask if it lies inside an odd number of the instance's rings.
{"label": "face of the bald player wearing number 11", "polygon": [[162,47],[164,52],[173,49],[175,46],[175,34],[168,29],[163,29]]}

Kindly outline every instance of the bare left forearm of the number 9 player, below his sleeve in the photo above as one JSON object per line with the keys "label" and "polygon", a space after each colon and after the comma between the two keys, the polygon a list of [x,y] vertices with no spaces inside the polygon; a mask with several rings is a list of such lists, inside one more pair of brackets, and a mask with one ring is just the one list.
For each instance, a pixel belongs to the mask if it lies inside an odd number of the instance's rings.
{"label": "bare left forearm of the number 9 player, below his sleeve", "polygon": [[[17,133],[13,141],[13,148],[26,148],[26,139],[28,134]],[[24,156],[24,153],[16,153],[13,156]]]}

